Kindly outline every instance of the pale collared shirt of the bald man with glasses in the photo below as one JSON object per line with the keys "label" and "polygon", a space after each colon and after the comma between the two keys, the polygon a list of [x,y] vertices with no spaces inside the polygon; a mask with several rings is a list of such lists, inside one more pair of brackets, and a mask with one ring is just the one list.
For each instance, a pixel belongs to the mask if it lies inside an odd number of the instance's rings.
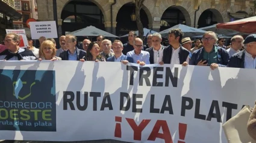
{"label": "pale collared shirt of the bald man with glasses", "polygon": [[142,50],[139,55],[136,55],[134,50],[127,53],[127,56],[133,58],[134,63],[137,63],[137,61],[143,61],[145,64],[150,64],[149,62],[149,52]]}

